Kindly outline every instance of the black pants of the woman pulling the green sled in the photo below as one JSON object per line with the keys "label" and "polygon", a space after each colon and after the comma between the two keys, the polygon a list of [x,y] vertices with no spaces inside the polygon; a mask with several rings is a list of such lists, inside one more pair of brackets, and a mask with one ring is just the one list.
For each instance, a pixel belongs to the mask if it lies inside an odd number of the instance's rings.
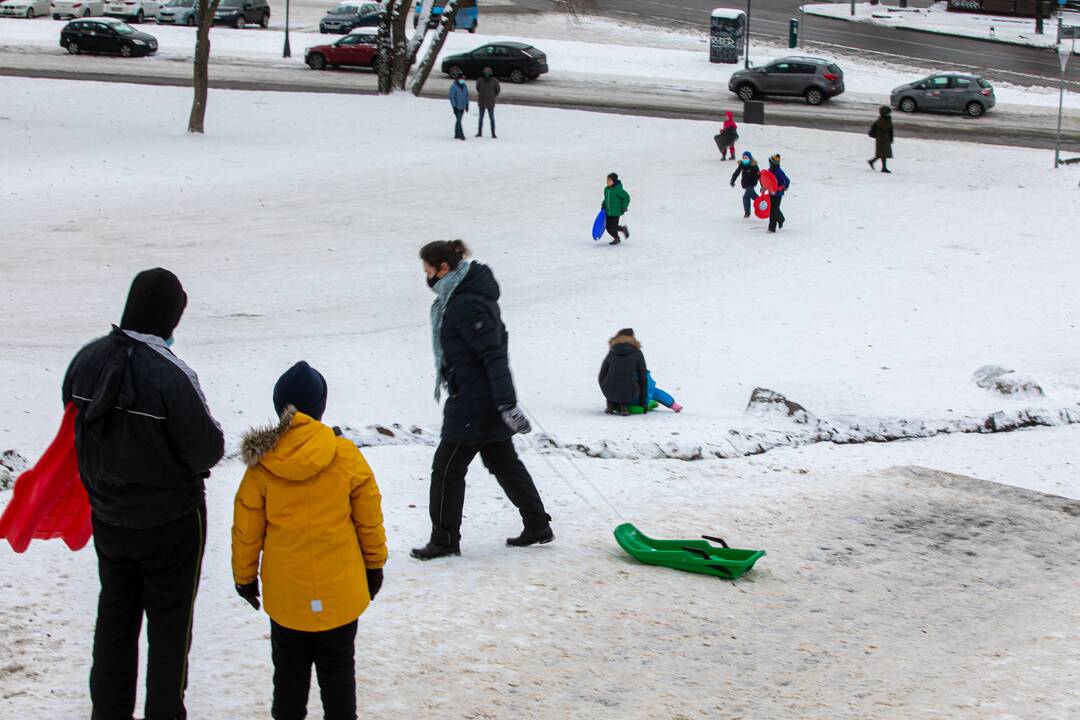
{"label": "black pants of the woman pulling the green sled", "polygon": [[465,473],[476,454],[495,475],[502,491],[522,514],[526,530],[542,530],[551,518],[525,464],[517,457],[514,440],[463,445],[443,440],[431,465],[431,540],[440,545],[461,542],[461,513],[465,503]]}

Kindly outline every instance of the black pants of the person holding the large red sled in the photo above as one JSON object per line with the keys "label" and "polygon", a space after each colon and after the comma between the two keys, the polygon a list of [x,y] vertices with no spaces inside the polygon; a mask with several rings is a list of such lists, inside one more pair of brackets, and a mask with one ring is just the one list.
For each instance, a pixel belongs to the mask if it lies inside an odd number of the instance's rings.
{"label": "black pants of the person holding the large red sled", "polygon": [[102,593],[90,673],[92,720],[131,720],[138,678],[138,637],[147,619],[147,720],[184,720],[191,621],[206,508],[166,525],[133,530],[94,518]]}

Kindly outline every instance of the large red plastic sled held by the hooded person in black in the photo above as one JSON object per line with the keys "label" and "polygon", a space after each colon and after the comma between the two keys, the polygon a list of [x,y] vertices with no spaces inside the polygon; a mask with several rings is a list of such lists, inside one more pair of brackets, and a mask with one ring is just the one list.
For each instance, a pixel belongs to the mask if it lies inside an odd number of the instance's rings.
{"label": "large red plastic sled held by the hooded person in black", "polygon": [[16,553],[30,540],[59,538],[73,551],[82,549],[93,533],[90,501],[79,478],[75,451],[76,407],[64,410],[60,430],[38,464],[18,476],[11,502],[0,516],[0,538]]}

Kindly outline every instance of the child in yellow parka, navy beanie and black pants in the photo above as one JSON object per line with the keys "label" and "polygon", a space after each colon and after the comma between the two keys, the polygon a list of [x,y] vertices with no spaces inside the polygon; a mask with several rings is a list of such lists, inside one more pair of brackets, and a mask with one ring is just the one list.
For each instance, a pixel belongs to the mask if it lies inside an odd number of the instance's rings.
{"label": "child in yellow parka, navy beanie and black pants", "polygon": [[354,720],[356,619],[382,586],[382,499],[355,445],[321,420],[326,381],[307,363],[278,380],[280,422],[243,440],[232,572],[237,593],[270,615],[275,720],[303,718],[311,666],[325,717]]}

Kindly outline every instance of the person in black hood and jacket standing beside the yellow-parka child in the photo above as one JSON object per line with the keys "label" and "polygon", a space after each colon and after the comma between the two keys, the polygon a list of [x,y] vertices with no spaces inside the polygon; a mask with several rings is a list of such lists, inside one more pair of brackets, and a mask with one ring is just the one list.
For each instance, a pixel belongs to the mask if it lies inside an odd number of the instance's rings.
{"label": "person in black hood and jacket standing beside the yellow-parka child", "polygon": [[156,268],[135,276],[119,327],[64,377],[90,498],[102,590],[90,673],[93,720],[131,718],[139,631],[150,652],[146,717],[187,717],[191,619],[206,543],[204,480],[225,452],[199,378],[173,354],[188,296]]}

